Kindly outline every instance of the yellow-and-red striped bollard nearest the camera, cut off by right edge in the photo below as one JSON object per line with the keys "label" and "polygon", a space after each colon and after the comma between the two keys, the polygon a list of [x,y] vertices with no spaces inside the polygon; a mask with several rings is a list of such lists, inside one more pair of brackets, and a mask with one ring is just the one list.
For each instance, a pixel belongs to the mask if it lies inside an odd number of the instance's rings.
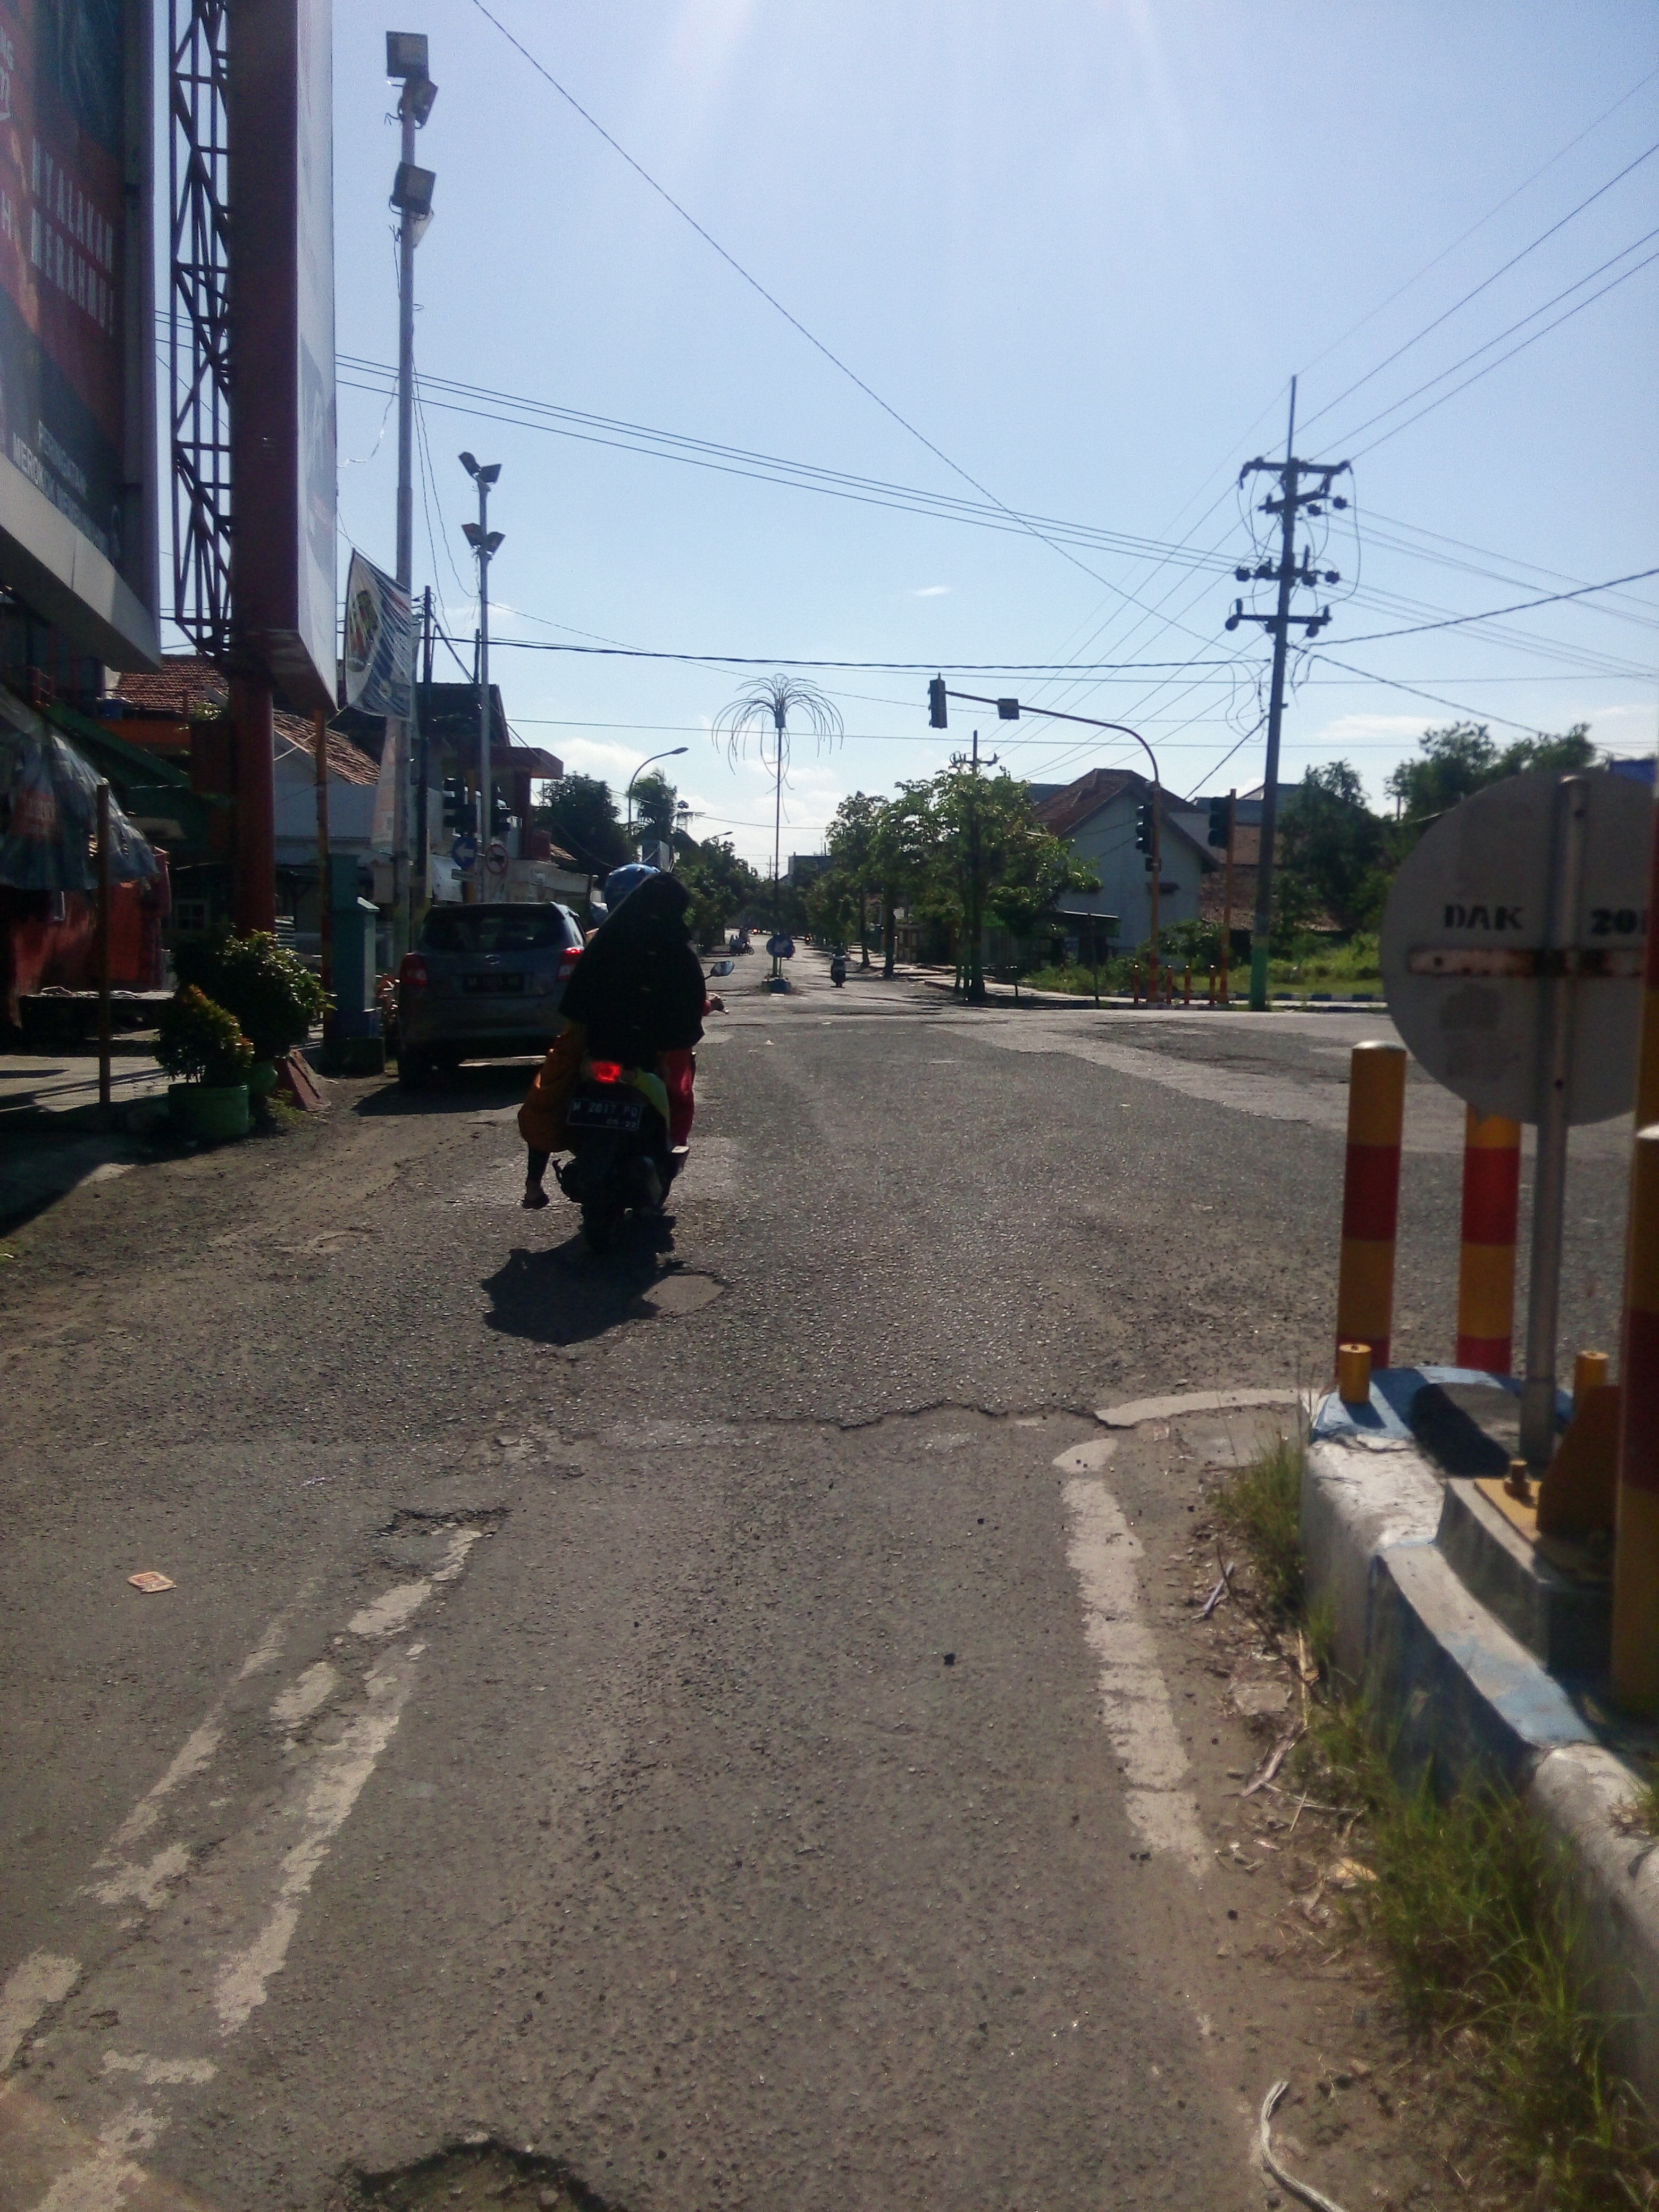
{"label": "yellow-and-red striped bollard nearest the camera, cut off by right edge", "polygon": [[1659,1714],[1659,1124],[1637,1130],[1619,1345],[1613,1694]]}

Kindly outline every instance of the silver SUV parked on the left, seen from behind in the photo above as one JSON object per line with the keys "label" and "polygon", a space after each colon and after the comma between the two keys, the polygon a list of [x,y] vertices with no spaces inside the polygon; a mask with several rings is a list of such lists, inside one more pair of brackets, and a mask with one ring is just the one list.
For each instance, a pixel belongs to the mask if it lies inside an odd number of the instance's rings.
{"label": "silver SUV parked on the left, seen from behind", "polygon": [[429,907],[398,969],[398,1082],[434,1066],[544,1053],[582,958],[568,907]]}

